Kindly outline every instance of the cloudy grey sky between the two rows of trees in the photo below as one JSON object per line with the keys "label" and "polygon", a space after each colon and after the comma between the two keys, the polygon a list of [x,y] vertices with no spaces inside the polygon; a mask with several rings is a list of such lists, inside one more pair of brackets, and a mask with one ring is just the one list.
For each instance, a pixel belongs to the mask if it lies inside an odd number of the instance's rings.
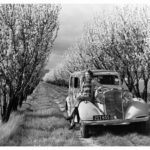
{"label": "cloudy grey sky between the two rows of trees", "polygon": [[60,29],[54,50],[46,68],[51,70],[63,60],[64,52],[82,35],[84,25],[102,10],[111,9],[110,4],[62,4],[59,15]]}

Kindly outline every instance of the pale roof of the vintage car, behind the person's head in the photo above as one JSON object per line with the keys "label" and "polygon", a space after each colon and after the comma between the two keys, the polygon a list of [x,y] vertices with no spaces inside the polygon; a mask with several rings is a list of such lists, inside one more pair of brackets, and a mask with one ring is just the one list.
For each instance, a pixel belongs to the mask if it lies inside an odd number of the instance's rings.
{"label": "pale roof of the vintage car, behind the person's head", "polygon": [[[73,73],[71,73],[71,76],[74,76],[74,77],[79,77],[79,76],[83,76],[84,73],[86,72],[87,70],[83,70],[83,71],[75,71]],[[112,70],[91,70],[93,72],[94,75],[119,75],[118,72],[116,71],[112,71]]]}

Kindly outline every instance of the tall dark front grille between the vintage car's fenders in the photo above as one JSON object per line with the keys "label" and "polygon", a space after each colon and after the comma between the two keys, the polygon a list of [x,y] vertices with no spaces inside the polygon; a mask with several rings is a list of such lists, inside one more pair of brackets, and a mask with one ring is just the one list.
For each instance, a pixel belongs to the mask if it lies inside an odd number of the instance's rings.
{"label": "tall dark front grille between the vintage car's fenders", "polygon": [[104,93],[106,113],[111,115],[112,119],[123,119],[123,108],[121,91],[113,89]]}

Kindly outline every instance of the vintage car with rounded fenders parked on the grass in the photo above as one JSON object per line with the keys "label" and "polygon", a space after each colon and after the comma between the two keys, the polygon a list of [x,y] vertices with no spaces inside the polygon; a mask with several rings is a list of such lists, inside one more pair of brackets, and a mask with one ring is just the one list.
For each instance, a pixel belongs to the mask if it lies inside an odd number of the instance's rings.
{"label": "vintage car with rounded fenders parked on the grass", "polygon": [[[92,73],[94,98],[92,102],[83,100],[78,105],[82,137],[88,137],[91,125],[125,125],[149,120],[148,104],[123,88],[117,72],[92,70]],[[70,76],[66,101],[68,116],[75,107],[84,74],[85,71],[79,71]]]}

